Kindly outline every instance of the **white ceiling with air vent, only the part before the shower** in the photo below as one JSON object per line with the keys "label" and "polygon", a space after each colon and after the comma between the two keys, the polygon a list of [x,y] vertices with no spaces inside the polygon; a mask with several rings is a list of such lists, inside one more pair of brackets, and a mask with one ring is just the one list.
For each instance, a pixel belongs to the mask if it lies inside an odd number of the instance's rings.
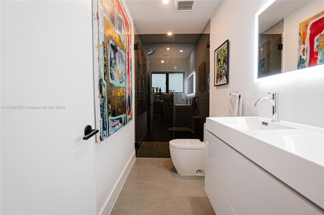
{"label": "white ceiling with air vent, only the part before the shower", "polygon": [[191,11],[174,12],[175,0],[169,0],[168,4],[163,4],[162,0],[126,2],[134,18],[136,34],[166,34],[170,31],[173,34],[200,34],[220,3],[219,0],[194,0]]}

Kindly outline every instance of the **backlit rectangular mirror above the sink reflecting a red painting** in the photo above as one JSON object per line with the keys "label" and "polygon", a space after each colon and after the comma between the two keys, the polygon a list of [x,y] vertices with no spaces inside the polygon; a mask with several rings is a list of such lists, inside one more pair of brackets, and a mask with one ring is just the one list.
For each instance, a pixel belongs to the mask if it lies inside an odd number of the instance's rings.
{"label": "backlit rectangular mirror above the sink reflecting a red painting", "polygon": [[256,79],[324,62],[324,1],[270,1],[256,14]]}

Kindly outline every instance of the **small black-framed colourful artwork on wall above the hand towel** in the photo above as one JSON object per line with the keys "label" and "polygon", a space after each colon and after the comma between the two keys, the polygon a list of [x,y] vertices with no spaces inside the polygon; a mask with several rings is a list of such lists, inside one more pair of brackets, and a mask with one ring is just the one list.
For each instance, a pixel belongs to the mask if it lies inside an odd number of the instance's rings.
{"label": "small black-framed colourful artwork on wall above the hand towel", "polygon": [[228,40],[215,50],[214,86],[228,84]]}

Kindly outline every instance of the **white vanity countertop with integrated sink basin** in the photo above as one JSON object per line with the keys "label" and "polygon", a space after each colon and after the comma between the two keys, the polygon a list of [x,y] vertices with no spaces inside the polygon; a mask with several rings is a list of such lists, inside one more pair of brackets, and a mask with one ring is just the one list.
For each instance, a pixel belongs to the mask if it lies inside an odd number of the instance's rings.
{"label": "white vanity countertop with integrated sink basin", "polygon": [[262,117],[209,117],[206,129],[324,209],[324,128]]}

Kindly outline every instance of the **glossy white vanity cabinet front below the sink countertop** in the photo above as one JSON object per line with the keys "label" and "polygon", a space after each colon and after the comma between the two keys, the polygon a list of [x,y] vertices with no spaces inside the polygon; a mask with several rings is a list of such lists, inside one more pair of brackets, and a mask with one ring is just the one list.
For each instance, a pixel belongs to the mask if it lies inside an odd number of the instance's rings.
{"label": "glossy white vanity cabinet front below the sink countertop", "polygon": [[205,189],[217,214],[324,214],[209,130],[206,147]]}

